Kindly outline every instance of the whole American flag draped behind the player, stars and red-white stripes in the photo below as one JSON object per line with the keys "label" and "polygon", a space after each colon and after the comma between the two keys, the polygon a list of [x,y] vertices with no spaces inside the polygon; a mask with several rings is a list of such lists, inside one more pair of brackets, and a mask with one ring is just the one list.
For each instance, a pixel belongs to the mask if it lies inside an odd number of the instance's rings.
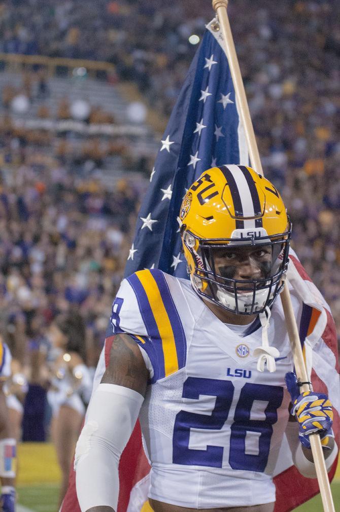
{"label": "whole American flag draped behind the player, stars and red-white stripes", "polygon": [[[186,188],[214,165],[248,165],[248,151],[237,109],[235,90],[216,22],[207,25],[178,101],[160,142],[151,185],[141,206],[125,276],[143,268],[160,268],[187,277],[177,216]],[[300,319],[303,346],[312,350],[311,380],[314,389],[327,393],[334,406],[334,433],[340,444],[340,391],[337,339],[333,318],[322,295],[293,251],[288,278],[304,303]],[[94,389],[108,365],[112,329],[97,366]],[[111,333],[111,334],[110,334]],[[329,477],[333,478],[337,461]],[[139,422],[119,463],[117,512],[151,512],[147,504],[150,465],[144,453]],[[288,512],[318,493],[316,480],[306,479],[295,468],[284,441],[274,471],[277,501],[274,512]],[[67,495],[60,512],[80,512],[75,473],[71,469]]]}

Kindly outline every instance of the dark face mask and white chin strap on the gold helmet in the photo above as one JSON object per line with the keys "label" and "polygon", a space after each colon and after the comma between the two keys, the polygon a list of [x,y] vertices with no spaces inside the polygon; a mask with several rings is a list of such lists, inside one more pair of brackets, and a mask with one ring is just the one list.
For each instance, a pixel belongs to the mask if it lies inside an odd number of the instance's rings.
{"label": "dark face mask and white chin strap on the gold helmet", "polygon": [[[231,239],[221,243],[221,240],[196,239],[188,231],[187,234],[189,237],[186,235],[184,240],[192,242],[195,239],[199,246],[198,251],[193,247],[188,249],[194,252],[197,262],[192,283],[201,297],[235,314],[253,315],[272,305],[283,287],[282,277],[288,267],[290,229],[281,233],[277,240],[268,241],[266,237],[266,240],[255,244],[252,238],[243,240],[242,245]],[[236,279],[236,267],[229,264],[228,253],[235,254],[238,264],[243,258],[242,253],[247,254],[249,249],[250,252],[255,249],[256,253],[265,253],[258,263],[261,276],[258,279]],[[216,260],[225,260],[225,264],[216,265]]]}

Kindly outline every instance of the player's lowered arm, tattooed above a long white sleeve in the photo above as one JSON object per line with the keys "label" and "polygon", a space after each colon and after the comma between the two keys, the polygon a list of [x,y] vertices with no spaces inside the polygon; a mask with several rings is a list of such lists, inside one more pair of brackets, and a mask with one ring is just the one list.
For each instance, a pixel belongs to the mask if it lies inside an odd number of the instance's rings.
{"label": "player's lowered arm, tattooed above a long white sleeve", "polygon": [[[87,415],[87,424],[97,423],[97,430],[84,433],[86,424],[77,443],[76,482],[82,512],[115,512],[111,505],[118,499],[119,457],[134,428],[147,379],[138,345],[127,334],[116,335]],[[90,435],[91,449],[86,452]]]}

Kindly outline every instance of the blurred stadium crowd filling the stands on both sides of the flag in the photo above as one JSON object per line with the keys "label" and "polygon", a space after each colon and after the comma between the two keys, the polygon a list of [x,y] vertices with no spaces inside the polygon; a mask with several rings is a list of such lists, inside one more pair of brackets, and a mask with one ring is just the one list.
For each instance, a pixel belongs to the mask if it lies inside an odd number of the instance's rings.
{"label": "blurred stadium crowd filling the stands on both sides of the flag", "polygon": [[[235,0],[229,14],[265,173],[283,193],[294,249],[340,332],[340,7],[332,0],[262,0],[252,3],[259,8],[254,16],[239,17],[246,4]],[[203,0],[164,1],[162,7],[157,0],[5,0],[0,52],[110,61],[121,81],[135,81],[168,116],[194,54],[188,36],[201,35],[211,14]],[[48,91],[48,83],[44,87]],[[94,366],[141,190],[123,180],[108,191],[74,174],[74,162],[53,137],[46,153],[41,134],[23,142],[5,121],[0,138],[6,339],[30,366],[49,343],[53,318],[71,310],[84,319],[87,364]]]}

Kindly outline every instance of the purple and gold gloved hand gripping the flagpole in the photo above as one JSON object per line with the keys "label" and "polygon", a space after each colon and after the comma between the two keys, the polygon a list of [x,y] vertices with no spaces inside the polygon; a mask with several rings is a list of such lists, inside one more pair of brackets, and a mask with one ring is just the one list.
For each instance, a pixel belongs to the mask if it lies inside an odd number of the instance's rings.
{"label": "purple and gold gloved hand gripping the flagpole", "polygon": [[290,414],[295,416],[299,423],[301,444],[310,448],[309,435],[318,432],[321,444],[325,449],[330,450],[329,442],[334,437],[332,431],[333,410],[330,399],[324,393],[314,391],[300,393],[298,380],[293,372],[288,372],[285,380],[293,404]]}

